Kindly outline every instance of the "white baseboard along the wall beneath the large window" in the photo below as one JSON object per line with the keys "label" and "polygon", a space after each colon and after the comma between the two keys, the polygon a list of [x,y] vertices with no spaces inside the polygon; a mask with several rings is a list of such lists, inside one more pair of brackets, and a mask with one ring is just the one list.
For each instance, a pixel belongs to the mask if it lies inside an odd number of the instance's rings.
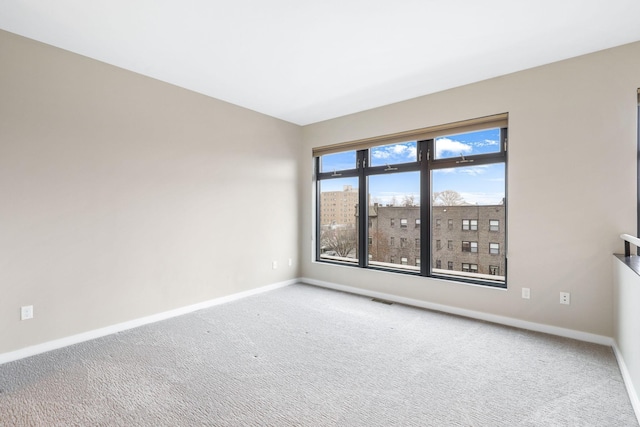
{"label": "white baseboard along the wall beneath the large window", "polygon": [[526,320],[514,319],[512,317],[498,316],[495,314],[483,313],[480,311],[466,310],[464,308],[452,307],[443,304],[435,304],[431,302],[421,301],[413,298],[400,297],[393,294],[369,291],[367,289],[355,288],[352,286],[338,285],[336,283],[324,282],[321,280],[310,279],[307,277],[300,278],[300,282],[309,285],[319,286],[338,291],[349,292],[352,294],[364,295],[372,298],[381,298],[399,304],[411,305],[414,307],[426,308],[428,310],[441,311],[444,313],[455,314],[458,316],[470,317],[472,319],[485,320],[487,322],[499,323],[501,325],[513,326],[515,328],[527,329],[535,332],[543,332],[545,334],[557,335],[565,338],[572,338],[579,341],[601,344],[606,346],[613,345],[613,338],[604,335],[596,335],[588,332],[575,331],[573,329],[560,328],[557,326],[544,325],[542,323],[528,322]]}

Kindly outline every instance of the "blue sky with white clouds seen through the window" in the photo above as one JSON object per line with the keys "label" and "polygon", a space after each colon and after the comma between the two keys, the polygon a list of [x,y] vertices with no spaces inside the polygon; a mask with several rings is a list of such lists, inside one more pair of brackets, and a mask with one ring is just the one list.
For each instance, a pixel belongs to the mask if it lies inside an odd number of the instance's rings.
{"label": "blue sky with white clouds seen through the window", "polygon": [[[435,158],[444,159],[474,154],[492,153],[500,150],[500,130],[489,129],[479,132],[443,136],[435,140]],[[323,156],[322,171],[331,172],[353,169],[356,163],[355,151]],[[391,144],[371,149],[371,165],[384,166],[417,160],[416,142]],[[498,204],[505,197],[504,164],[466,166],[440,169],[432,172],[432,190],[454,190],[472,204]],[[343,185],[358,186],[357,178],[325,180],[322,191],[342,190]],[[394,173],[369,177],[369,194],[372,202],[390,204],[401,203],[405,196],[413,196],[420,201],[418,172]]]}

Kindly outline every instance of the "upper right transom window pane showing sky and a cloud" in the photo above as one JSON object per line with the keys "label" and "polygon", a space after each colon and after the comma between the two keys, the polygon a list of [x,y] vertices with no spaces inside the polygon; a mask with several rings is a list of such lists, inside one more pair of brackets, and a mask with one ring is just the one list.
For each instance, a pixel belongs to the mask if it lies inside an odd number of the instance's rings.
{"label": "upper right transom window pane showing sky and a cloud", "polygon": [[436,160],[498,153],[500,152],[500,129],[441,136],[435,139],[434,144]]}

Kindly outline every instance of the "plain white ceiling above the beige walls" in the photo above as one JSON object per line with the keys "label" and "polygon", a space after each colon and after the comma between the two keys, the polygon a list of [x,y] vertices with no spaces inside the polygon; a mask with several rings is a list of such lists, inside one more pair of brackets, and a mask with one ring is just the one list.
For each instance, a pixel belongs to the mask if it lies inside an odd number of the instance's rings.
{"label": "plain white ceiling above the beige walls", "polygon": [[0,0],[0,28],[305,125],[640,40],[639,0]]}

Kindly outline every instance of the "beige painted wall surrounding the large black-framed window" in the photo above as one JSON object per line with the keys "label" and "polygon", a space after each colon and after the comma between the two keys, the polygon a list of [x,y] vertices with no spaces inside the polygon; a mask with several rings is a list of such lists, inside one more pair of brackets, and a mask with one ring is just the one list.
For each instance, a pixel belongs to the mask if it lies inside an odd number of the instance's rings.
{"label": "beige painted wall surrounding the large black-framed window", "polygon": [[[304,127],[303,276],[612,337],[611,254],[636,231],[638,87],[635,43]],[[504,112],[508,290],[313,261],[312,147]]]}

